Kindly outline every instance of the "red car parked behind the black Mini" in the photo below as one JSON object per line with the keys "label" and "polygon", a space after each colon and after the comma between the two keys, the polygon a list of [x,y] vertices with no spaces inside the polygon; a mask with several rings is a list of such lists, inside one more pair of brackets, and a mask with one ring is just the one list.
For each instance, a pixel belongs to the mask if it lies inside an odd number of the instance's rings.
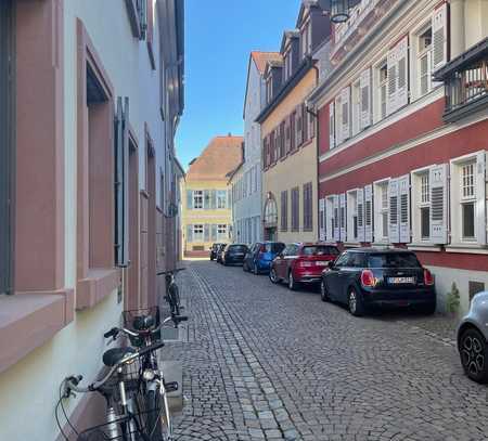
{"label": "red car parked behind the black Mini", "polygon": [[300,284],[320,283],[328,262],[338,255],[338,248],[333,245],[288,244],[272,261],[269,278],[272,283],[286,282],[293,290]]}

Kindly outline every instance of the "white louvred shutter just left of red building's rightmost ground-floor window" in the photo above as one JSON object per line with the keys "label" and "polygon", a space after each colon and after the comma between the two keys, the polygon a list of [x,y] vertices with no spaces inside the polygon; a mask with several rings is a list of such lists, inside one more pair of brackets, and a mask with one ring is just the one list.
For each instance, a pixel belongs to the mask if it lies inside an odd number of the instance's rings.
{"label": "white louvred shutter just left of red building's rightmost ground-floor window", "polygon": [[429,170],[431,186],[431,242],[448,243],[448,166],[442,164]]}

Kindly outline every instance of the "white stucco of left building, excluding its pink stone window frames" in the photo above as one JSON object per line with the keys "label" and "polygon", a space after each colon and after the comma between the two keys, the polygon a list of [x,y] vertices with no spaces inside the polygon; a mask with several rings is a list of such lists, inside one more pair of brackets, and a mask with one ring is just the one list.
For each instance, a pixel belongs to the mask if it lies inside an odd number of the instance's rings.
{"label": "white stucco of left building, excluding its pink stone window frames", "polygon": [[[132,37],[123,1],[65,0],[65,286],[72,288],[76,285],[77,17],[87,28],[116,96],[129,96],[130,122],[139,141],[141,187],[145,182],[144,122],[147,122],[155,142],[157,170],[164,167],[163,150],[166,144],[159,114],[156,10],[156,70],[152,70],[146,42]],[[159,200],[158,186],[157,179],[156,200]],[[123,302],[117,301],[114,291],[94,308],[76,312],[68,326],[0,375],[0,440],[52,441],[57,437],[54,407],[62,379],[70,374],[81,374],[89,380],[99,374],[102,368],[101,355],[107,349],[103,333],[119,323],[121,311]],[[79,399],[80,395],[67,403],[68,413]]]}

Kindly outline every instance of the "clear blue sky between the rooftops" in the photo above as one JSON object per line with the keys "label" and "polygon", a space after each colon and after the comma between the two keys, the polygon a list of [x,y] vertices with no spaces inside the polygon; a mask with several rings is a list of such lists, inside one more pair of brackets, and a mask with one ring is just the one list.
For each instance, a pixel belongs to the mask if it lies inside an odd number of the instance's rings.
{"label": "clear blue sky between the rooftops", "polygon": [[242,134],[247,61],[280,50],[300,0],[185,0],[185,108],[177,156],[187,169],[216,134]]}

